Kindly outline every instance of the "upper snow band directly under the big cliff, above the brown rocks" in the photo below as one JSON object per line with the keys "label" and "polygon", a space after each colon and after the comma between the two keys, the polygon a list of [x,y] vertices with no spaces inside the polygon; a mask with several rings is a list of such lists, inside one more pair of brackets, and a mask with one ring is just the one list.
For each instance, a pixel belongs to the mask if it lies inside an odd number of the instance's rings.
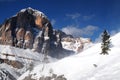
{"label": "upper snow band directly under the big cliff, above the brown rocks", "polygon": [[[24,62],[22,60],[35,60],[38,62],[42,62],[44,55],[38,52],[34,52],[30,49],[20,49],[6,45],[0,45],[0,58],[6,59],[6,55],[8,55],[7,59],[9,60],[20,60],[20,62]],[[10,55],[10,56],[9,56]],[[13,55],[13,56],[12,56]],[[20,57],[20,58],[19,58]],[[23,58],[23,59],[22,59]],[[48,56],[50,61],[51,57]],[[22,59],[22,60],[21,60]]]}

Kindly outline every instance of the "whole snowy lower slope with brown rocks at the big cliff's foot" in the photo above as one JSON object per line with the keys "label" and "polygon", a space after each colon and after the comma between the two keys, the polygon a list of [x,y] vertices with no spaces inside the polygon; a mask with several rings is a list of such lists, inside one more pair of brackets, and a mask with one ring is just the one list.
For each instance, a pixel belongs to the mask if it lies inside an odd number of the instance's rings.
{"label": "whole snowy lower slope with brown rocks at the big cliff's foot", "polygon": [[56,59],[45,57],[44,54],[30,49],[0,45],[0,80],[17,80],[20,75],[27,70],[32,70],[35,65],[53,61]]}

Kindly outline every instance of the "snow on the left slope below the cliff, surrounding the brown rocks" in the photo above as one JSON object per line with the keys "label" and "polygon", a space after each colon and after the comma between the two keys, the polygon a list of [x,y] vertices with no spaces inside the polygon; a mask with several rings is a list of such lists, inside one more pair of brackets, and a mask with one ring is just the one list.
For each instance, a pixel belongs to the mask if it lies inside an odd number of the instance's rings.
{"label": "snow on the left slope below the cliff, surrounding the brown rocks", "polygon": [[[47,56],[47,58],[49,62],[56,61],[56,59],[51,58],[49,56]],[[18,69],[6,63],[2,63],[2,64],[0,63],[0,73],[1,73],[1,69],[4,69],[8,71],[16,79],[18,79],[18,77],[21,74],[25,73],[28,69],[30,69],[30,67],[32,67],[31,64],[35,66],[42,63],[44,61],[44,55],[41,53],[34,52],[30,49],[25,50],[7,45],[0,45],[0,59],[19,61],[20,63],[23,64],[23,68]],[[7,77],[5,77],[5,80],[6,79],[9,80]],[[1,75],[0,75],[0,80],[1,80]]]}

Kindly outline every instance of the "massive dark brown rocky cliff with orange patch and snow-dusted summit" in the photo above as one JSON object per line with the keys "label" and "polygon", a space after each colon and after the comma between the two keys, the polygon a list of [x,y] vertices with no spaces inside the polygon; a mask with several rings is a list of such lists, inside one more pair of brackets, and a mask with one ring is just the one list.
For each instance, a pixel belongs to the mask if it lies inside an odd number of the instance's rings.
{"label": "massive dark brown rocky cliff with orange patch and snow-dusted summit", "polygon": [[1,25],[0,44],[54,56],[58,56],[55,52],[63,51],[60,33],[53,31],[50,21],[42,12],[32,8],[22,9]]}

